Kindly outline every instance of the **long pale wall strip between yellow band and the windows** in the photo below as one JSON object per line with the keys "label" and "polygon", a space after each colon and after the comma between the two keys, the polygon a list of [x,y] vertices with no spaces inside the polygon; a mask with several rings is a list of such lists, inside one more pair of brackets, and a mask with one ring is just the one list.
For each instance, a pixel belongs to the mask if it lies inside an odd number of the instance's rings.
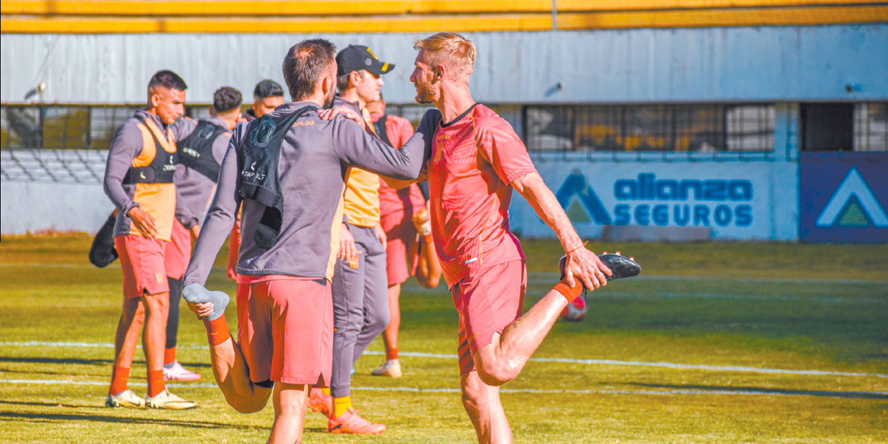
{"label": "long pale wall strip between yellow band and the windows", "polygon": [[[490,103],[636,103],[868,100],[888,98],[888,25],[640,28],[467,33],[479,48],[475,99]],[[252,91],[282,83],[281,59],[308,34],[0,36],[0,101],[123,104],[145,101],[147,79],[170,68],[188,99],[219,86]],[[367,44],[397,65],[391,103],[412,103],[408,81],[427,34],[330,34],[338,47]],[[581,50],[582,49],[582,50]],[[882,74],[879,74],[882,73]]]}

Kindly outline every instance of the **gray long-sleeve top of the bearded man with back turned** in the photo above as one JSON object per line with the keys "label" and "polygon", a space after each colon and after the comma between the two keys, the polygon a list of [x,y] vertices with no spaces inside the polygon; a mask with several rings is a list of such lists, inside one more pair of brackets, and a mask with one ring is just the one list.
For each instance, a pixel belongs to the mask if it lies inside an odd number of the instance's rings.
{"label": "gray long-sleeve top of the bearded man with back turned", "polygon": [[[305,106],[320,109],[313,102],[290,102],[275,108],[272,115],[293,113]],[[263,250],[254,242],[254,236],[266,207],[249,199],[241,202],[238,194],[238,150],[246,128],[246,123],[239,125],[228,145],[217,192],[194,247],[185,285],[206,282],[241,203],[238,274],[283,274],[329,280],[338,250],[349,167],[357,166],[391,178],[416,178],[431,151],[433,131],[432,119],[424,118],[413,138],[400,149],[394,149],[345,116],[325,121],[310,111],[299,117],[284,137],[278,163],[283,195],[281,234],[271,249]]]}

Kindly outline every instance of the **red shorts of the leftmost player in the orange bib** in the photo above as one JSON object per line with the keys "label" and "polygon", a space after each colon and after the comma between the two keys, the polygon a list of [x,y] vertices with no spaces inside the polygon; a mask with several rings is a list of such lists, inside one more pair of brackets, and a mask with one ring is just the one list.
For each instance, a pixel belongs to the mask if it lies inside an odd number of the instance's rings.
{"label": "red shorts of the leftmost player in the orange bib", "polygon": [[170,242],[148,239],[135,234],[115,236],[114,248],[123,268],[123,297],[156,295],[170,291],[163,267],[163,252]]}

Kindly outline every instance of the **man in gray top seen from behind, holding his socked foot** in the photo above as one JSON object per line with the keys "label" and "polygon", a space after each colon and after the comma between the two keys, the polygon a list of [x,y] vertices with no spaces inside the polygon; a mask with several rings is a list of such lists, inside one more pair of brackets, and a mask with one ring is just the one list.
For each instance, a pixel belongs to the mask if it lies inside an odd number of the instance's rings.
{"label": "man in gray top seen from behind, holding his socked foot", "polygon": [[[336,48],[326,40],[306,40],[284,58],[283,75],[295,102],[240,125],[228,147],[201,238],[185,276],[189,307],[204,317],[217,384],[228,403],[241,412],[266,405],[274,386],[275,421],[269,442],[301,439],[307,392],[329,385],[332,301],[329,280],[337,254],[345,179],[351,166],[394,178],[416,178],[431,147],[430,123],[420,124],[400,150],[386,146],[362,126],[360,115],[323,120],[314,109],[329,103],[336,87]],[[248,129],[303,107],[311,107],[286,132],[281,144],[281,228],[268,250],[255,242],[266,206],[241,200]],[[325,111],[321,115],[329,117]],[[353,120],[349,120],[353,119]],[[250,132],[250,134],[253,134]],[[261,135],[249,137],[259,137]],[[267,171],[266,171],[267,172]],[[231,338],[225,293],[202,287],[213,260],[242,204],[242,243],[237,272],[238,341]],[[334,242],[335,241],[335,242]],[[289,309],[288,309],[289,308]]]}

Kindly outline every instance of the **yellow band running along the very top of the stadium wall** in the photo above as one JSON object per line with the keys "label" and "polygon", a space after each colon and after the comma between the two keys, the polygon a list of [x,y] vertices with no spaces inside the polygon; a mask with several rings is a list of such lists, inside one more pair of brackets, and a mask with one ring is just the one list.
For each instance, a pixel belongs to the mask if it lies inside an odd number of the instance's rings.
{"label": "yellow band running along the very top of the stadium wall", "polygon": [[[689,28],[888,22],[873,0],[559,0],[556,27]],[[4,0],[7,33],[539,31],[549,0]]]}

